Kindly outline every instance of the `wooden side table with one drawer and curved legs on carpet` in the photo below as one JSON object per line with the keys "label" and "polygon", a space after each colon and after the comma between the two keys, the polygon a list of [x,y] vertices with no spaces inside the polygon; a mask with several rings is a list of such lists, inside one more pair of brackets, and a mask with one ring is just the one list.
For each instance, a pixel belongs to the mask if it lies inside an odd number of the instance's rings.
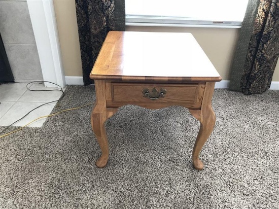
{"label": "wooden side table with one drawer and curved legs on carpet", "polygon": [[200,121],[192,159],[196,169],[203,168],[198,156],[215,125],[211,101],[221,77],[191,33],[110,31],[90,78],[97,98],[91,124],[102,151],[97,167],[109,159],[104,122],[119,107],[178,105]]}

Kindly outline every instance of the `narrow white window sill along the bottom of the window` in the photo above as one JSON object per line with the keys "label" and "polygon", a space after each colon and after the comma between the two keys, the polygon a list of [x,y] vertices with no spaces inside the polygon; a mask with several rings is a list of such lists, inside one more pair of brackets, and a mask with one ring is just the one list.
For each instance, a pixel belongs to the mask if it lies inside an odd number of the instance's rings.
{"label": "narrow white window sill along the bottom of the window", "polygon": [[211,27],[211,28],[241,28],[241,25],[223,24],[178,24],[178,23],[151,23],[151,22],[126,22],[127,26],[161,26],[161,27]]}

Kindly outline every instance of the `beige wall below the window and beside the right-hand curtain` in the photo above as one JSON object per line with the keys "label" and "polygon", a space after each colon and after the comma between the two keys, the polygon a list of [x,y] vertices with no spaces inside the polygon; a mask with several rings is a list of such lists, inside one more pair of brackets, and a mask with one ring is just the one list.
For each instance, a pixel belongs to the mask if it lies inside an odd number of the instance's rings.
{"label": "beige wall below the window and beside the right-hand curtain", "polygon": [[[240,28],[126,26],[126,31],[190,32],[223,80],[230,80],[230,69]],[[272,81],[279,81],[278,62]]]}

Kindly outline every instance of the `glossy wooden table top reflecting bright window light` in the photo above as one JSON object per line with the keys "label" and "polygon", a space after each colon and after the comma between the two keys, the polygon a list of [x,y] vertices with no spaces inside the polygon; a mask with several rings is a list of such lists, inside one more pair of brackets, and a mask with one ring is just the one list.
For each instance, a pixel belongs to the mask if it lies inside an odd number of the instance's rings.
{"label": "glossy wooden table top reflecting bright window light", "polygon": [[191,33],[110,31],[91,79],[189,82],[222,78]]}

